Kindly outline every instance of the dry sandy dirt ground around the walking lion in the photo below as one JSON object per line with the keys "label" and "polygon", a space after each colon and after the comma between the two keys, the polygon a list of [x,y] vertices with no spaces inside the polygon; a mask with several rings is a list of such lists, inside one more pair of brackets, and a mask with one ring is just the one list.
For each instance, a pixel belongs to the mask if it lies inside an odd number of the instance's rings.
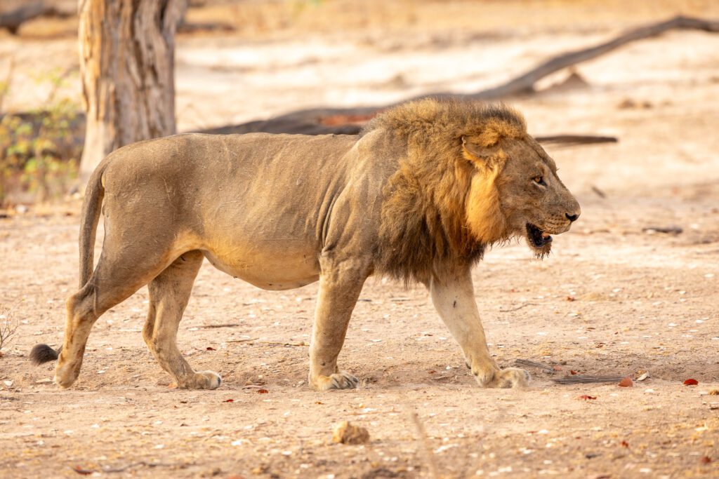
{"label": "dry sandy dirt ground around the walking lion", "polygon": [[[308,39],[285,31],[181,37],[180,126],[476,90],[630,24],[677,11],[719,17],[702,2],[631,2],[645,8],[623,12],[626,3],[575,2],[582,10],[517,1],[500,10],[488,2],[496,22],[473,28],[460,16],[454,28],[438,13],[441,22],[423,32],[418,22],[439,11],[429,3],[416,7],[414,22],[384,33],[372,24],[371,35],[350,25]],[[555,19],[521,22],[521,11]],[[66,37],[0,37],[0,52],[37,65],[42,55],[61,62],[58,52],[71,63],[73,48]],[[265,292],[206,264],[180,348],[195,368],[221,374],[220,389],[168,387],[142,341],[141,289],[100,318],[78,382],[59,391],[52,365],[32,367],[27,353],[61,342],[63,300],[77,282],[79,203],[11,212],[0,219],[0,303],[19,329],[0,358],[0,477],[429,478],[433,467],[446,478],[719,477],[718,52],[718,34],[671,32],[579,65],[585,85],[552,88],[559,75],[544,92],[511,99],[533,134],[620,139],[548,147],[582,218],[554,239],[549,259],[513,243],[475,270],[500,366],[528,359],[557,370],[528,368],[525,390],[480,389],[423,287],[370,279],[340,357],[359,389],[311,391],[316,285]],[[30,93],[11,100],[32,104]],[[645,231],[673,226],[682,232]],[[650,376],[631,388],[551,381],[571,371]],[[684,386],[687,378],[698,386]],[[332,444],[343,420],[366,427],[370,442]]]}

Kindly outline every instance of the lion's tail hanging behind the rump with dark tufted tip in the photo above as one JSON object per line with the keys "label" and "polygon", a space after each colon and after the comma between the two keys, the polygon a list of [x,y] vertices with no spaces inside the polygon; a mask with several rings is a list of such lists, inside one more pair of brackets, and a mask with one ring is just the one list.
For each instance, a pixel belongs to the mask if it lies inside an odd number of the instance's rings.
{"label": "lion's tail hanging behind the rump with dark tufted tip", "polygon": [[[97,223],[100,220],[102,200],[105,196],[105,187],[102,185],[102,175],[107,167],[108,159],[104,159],[88,180],[83,200],[83,210],[80,220],[80,288],[82,289],[90,279],[94,264],[95,237]],[[30,351],[30,361],[35,365],[55,361],[60,356],[63,347],[52,349],[46,344],[36,344]]]}

